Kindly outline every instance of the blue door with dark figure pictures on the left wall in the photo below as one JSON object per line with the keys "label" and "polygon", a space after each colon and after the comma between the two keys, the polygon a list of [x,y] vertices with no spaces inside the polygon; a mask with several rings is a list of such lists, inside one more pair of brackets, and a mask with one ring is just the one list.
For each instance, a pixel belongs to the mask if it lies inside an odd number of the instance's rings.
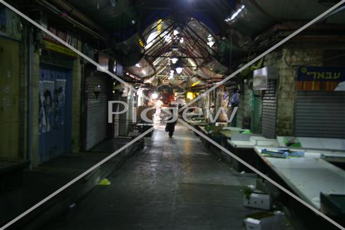
{"label": "blue door with dark figure pictures on the left wall", "polygon": [[39,69],[39,162],[71,151],[72,71]]}

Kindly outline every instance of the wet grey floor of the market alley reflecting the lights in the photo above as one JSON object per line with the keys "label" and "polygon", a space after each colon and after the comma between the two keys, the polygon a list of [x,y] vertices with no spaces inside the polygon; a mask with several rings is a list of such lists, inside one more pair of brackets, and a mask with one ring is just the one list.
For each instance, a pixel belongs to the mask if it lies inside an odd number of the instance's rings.
{"label": "wet grey floor of the market alley reflecting the lights", "polygon": [[217,161],[182,126],[168,138],[157,128],[134,155],[66,215],[43,229],[242,229],[257,212],[242,206],[240,189],[255,178]]}

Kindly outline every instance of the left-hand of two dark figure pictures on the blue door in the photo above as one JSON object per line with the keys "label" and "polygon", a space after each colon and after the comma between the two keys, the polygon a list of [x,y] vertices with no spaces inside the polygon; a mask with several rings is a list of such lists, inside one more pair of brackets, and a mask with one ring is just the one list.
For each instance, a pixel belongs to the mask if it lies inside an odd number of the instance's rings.
{"label": "left-hand of two dark figure pictures on the blue door", "polygon": [[39,81],[39,133],[52,130],[54,123],[54,90],[55,82]]}

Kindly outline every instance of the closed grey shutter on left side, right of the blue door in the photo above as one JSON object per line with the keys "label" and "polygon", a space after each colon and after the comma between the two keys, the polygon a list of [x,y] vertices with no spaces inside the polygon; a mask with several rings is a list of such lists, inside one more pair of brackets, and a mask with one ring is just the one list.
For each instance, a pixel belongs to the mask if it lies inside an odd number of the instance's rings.
{"label": "closed grey shutter on left side, right of the blue door", "polygon": [[[108,124],[108,102],[106,96],[106,77],[95,72],[86,78],[87,82],[87,129],[86,150],[96,146],[106,139]],[[101,87],[101,93],[96,98],[93,93],[95,86]]]}

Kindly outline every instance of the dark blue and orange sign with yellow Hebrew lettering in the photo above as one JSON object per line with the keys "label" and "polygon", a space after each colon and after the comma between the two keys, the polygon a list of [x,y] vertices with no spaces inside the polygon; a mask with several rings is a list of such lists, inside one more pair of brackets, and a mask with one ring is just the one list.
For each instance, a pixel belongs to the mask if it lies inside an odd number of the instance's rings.
{"label": "dark blue and orange sign with yellow Hebrew lettering", "polygon": [[345,68],[300,66],[297,70],[297,90],[345,91]]}

